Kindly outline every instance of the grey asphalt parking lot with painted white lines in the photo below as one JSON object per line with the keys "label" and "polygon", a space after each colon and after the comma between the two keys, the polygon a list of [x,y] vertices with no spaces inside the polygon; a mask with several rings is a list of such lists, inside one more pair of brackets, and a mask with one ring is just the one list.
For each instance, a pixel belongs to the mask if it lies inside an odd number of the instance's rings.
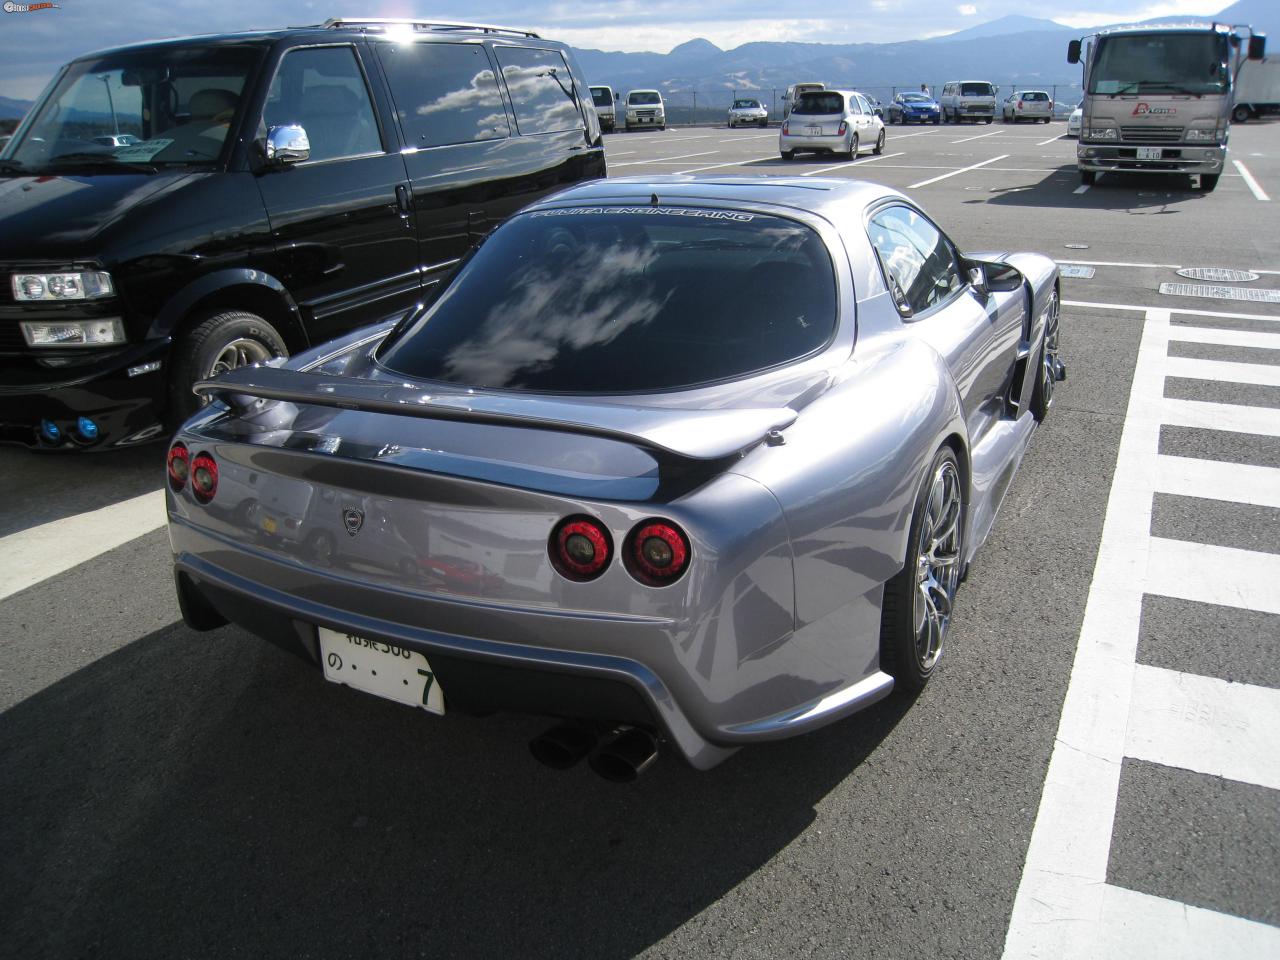
{"label": "grey asphalt parking lot with painted white lines", "polygon": [[192,632],[163,447],[0,449],[5,952],[1280,955],[1280,124],[1233,128],[1211,195],[1085,189],[1064,133],[890,127],[847,163],[783,161],[776,129],[605,137],[611,175],[873,179],[966,251],[1092,270],[933,682],[709,773],[556,773],[545,722],[436,721]]}

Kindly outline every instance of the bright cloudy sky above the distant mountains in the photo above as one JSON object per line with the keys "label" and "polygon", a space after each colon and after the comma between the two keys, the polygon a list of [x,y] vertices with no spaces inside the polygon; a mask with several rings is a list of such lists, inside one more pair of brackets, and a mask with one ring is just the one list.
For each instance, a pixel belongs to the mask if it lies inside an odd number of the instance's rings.
{"label": "bright cloudy sky above the distant mountains", "polygon": [[[5,3],[4,8],[38,0]],[[58,9],[0,12],[0,96],[32,99],[64,61],[90,50],[154,37],[319,23],[358,9],[366,17],[436,17],[531,27],[577,47],[667,52],[692,37],[731,49],[750,41],[892,42],[951,33],[1007,14],[1052,15],[1073,27],[1174,14],[1211,15],[1230,0],[1066,0],[1052,14],[1014,0],[58,0]],[[1076,5],[1078,4],[1078,5]],[[796,8],[812,6],[805,15]],[[780,17],[781,14],[781,17]]]}

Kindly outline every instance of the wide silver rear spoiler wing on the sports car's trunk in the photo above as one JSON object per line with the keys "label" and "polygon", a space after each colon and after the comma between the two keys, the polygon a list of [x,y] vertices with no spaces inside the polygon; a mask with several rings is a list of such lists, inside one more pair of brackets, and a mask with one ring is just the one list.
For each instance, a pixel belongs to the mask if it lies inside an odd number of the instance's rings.
{"label": "wide silver rear spoiler wing on the sports car's trunk", "polygon": [[424,420],[518,426],[620,440],[682,460],[723,460],[764,442],[795,422],[790,407],[675,410],[628,403],[435,392],[404,384],[307,374],[270,366],[243,366],[195,392],[218,397],[242,416],[261,401],[358,410]]}

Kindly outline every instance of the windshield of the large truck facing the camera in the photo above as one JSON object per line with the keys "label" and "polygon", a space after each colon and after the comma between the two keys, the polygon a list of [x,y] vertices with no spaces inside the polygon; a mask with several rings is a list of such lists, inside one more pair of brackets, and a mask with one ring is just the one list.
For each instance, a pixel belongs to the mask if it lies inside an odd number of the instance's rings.
{"label": "windshield of the large truck facing the camera", "polygon": [[1216,33],[1102,37],[1089,70],[1091,93],[1224,93],[1226,38]]}

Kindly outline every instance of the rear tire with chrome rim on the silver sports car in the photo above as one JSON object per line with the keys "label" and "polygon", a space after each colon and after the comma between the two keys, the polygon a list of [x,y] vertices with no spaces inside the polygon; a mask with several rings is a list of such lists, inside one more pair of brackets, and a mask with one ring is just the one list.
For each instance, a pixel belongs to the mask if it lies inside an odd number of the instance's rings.
{"label": "rear tire with chrome rim on the silver sports car", "polygon": [[[924,689],[942,655],[960,585],[964,498],[956,454],[943,445],[920,480],[902,570],[884,584],[881,609],[881,669],[893,677],[895,686],[909,692]],[[934,538],[936,532],[945,535]],[[931,541],[928,549],[923,543],[925,534]],[[938,562],[929,562],[929,557]]]}

